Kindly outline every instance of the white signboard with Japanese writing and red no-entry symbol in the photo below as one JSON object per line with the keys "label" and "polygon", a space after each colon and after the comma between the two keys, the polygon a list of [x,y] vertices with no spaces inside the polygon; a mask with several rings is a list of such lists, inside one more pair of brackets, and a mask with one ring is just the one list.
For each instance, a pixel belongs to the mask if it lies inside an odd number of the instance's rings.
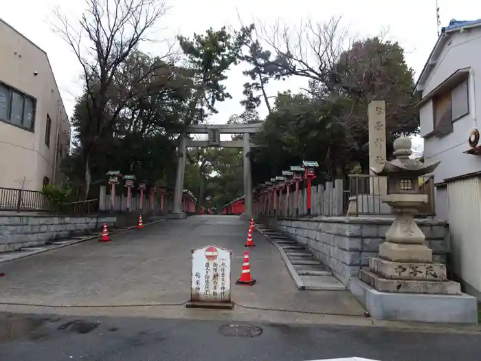
{"label": "white signboard with Japanese writing and red no-entry symbol", "polygon": [[192,251],[191,303],[230,303],[232,251],[208,245]]}

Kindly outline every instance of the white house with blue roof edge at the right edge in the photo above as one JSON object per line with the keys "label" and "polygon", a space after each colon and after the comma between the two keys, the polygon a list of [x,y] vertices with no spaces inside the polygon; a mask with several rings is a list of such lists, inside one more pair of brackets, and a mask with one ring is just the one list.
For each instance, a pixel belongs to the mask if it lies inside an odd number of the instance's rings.
{"label": "white house with blue roof edge at the right edge", "polygon": [[443,28],[416,91],[425,161],[441,161],[436,214],[449,222],[453,269],[481,299],[481,152],[468,141],[481,126],[481,20]]}

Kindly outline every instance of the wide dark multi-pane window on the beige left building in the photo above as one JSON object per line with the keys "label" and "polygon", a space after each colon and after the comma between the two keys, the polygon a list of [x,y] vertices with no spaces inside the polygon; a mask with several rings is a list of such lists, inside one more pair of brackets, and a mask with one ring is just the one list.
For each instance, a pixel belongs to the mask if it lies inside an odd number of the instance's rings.
{"label": "wide dark multi-pane window on the beige left building", "polygon": [[36,100],[0,83],[0,120],[34,131]]}

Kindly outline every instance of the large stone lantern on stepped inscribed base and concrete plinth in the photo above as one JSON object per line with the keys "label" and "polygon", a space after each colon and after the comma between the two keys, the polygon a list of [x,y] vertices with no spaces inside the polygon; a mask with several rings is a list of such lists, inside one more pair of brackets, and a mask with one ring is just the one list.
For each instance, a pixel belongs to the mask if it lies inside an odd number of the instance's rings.
{"label": "large stone lantern on stepped inscribed base and concrete plinth", "polygon": [[446,265],[434,263],[432,250],[414,215],[427,204],[418,177],[431,173],[440,162],[423,164],[410,159],[411,140],[394,141],[395,160],[371,170],[387,177],[382,201],[395,215],[379,246],[379,256],[359,272],[351,291],[370,316],[383,320],[477,322],[477,300],[462,294],[460,284],[447,279]]}

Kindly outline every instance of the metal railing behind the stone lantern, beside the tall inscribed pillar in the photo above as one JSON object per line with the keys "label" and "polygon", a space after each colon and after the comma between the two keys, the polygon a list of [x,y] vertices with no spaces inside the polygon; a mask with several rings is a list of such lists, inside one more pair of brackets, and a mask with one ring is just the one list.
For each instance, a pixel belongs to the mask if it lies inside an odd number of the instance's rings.
{"label": "metal railing behind the stone lantern, beside the tall inscribed pillar", "polygon": [[[348,215],[391,215],[391,207],[383,203],[381,195],[385,193],[385,177],[368,174],[348,175],[348,190],[344,201]],[[434,204],[434,175],[418,177],[421,194],[427,195],[427,204],[419,210],[416,217],[432,217],[436,215]]]}

